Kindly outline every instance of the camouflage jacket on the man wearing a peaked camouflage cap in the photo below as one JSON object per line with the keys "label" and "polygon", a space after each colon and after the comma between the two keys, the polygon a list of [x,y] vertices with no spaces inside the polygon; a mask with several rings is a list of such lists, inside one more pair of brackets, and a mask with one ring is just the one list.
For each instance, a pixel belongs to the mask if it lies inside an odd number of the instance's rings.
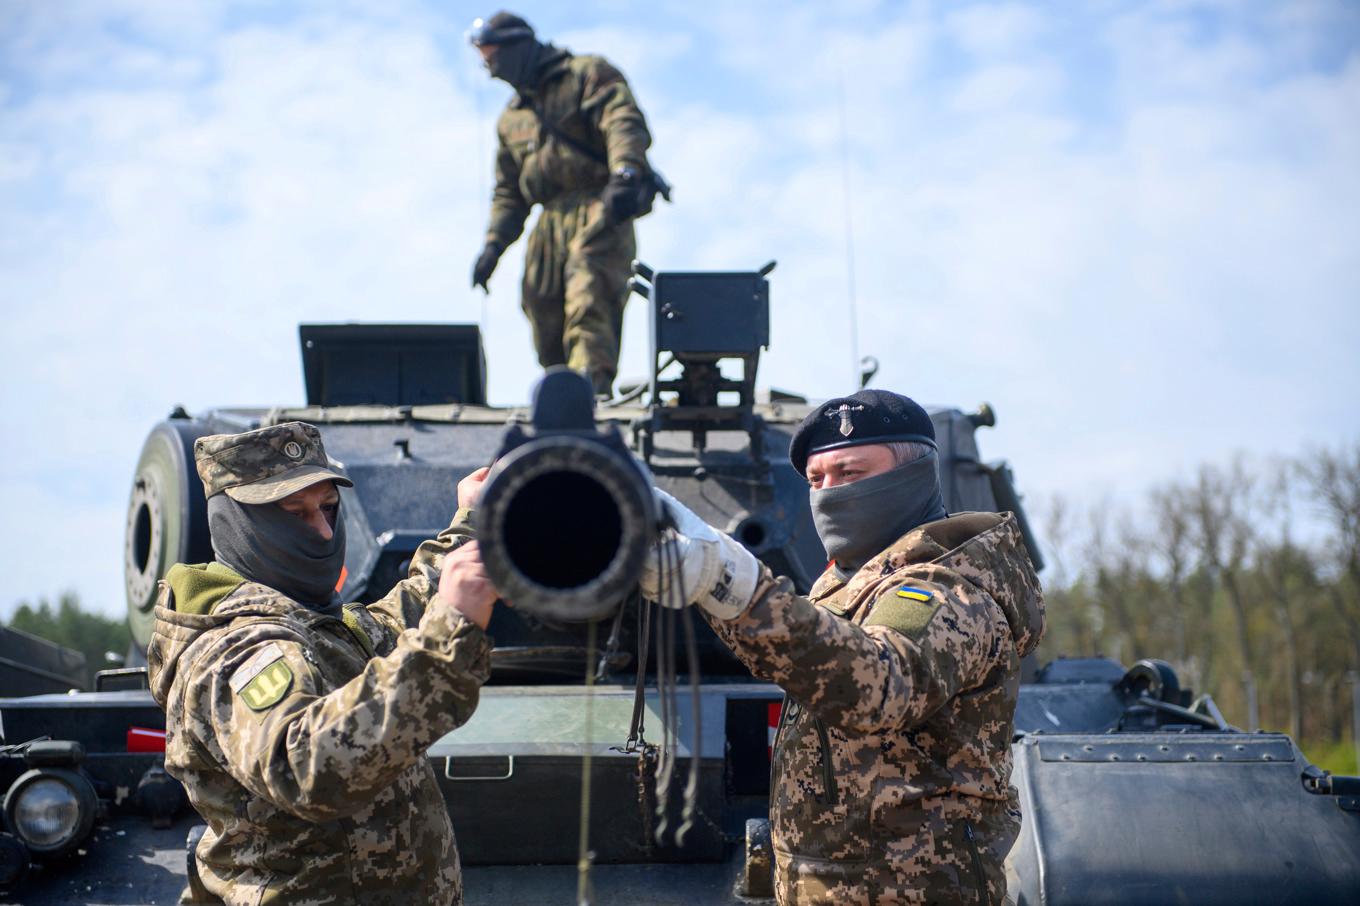
{"label": "camouflage jacket on the man wearing a peaked camouflage cap", "polygon": [[465,511],[386,597],[343,619],[220,563],[171,569],[147,649],[166,770],[208,823],[199,873],[227,903],[461,903],[426,750],[464,724],[491,641],[426,609]]}

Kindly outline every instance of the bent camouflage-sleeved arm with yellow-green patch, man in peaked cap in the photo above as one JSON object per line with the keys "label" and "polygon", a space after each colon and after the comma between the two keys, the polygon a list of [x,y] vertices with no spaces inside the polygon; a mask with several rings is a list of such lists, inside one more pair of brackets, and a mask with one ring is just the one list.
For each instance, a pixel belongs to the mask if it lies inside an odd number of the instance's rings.
{"label": "bent camouflage-sleeved arm with yellow-green patch, man in peaked cap", "polygon": [[[267,597],[246,589],[220,615],[258,612]],[[367,808],[468,721],[490,675],[490,638],[452,604],[428,608],[389,654],[332,691],[291,623],[222,631],[182,680],[182,714],[242,786],[306,820]]]}

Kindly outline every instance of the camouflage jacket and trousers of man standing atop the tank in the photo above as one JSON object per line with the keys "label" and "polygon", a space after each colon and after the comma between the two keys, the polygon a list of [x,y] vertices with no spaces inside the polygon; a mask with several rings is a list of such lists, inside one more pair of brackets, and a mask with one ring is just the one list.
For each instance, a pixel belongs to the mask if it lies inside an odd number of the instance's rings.
{"label": "camouflage jacket and trousers of man standing atop the tank", "polygon": [[539,363],[613,378],[636,242],[631,222],[605,220],[600,192],[619,167],[645,171],[651,135],[623,73],[609,61],[554,52],[533,103],[558,131],[598,148],[608,165],[551,135],[517,94],[496,124],[487,242],[509,248],[524,233],[530,208],[543,205],[522,286]]}

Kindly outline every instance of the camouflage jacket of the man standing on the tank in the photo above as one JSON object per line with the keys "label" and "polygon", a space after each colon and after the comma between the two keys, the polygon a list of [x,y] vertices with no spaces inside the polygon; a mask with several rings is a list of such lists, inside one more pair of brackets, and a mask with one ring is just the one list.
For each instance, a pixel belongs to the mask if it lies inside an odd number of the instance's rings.
{"label": "camouflage jacket of the man standing on the tank", "polygon": [[[604,57],[548,52],[556,56],[549,57],[539,90],[529,97],[515,94],[496,124],[496,186],[487,242],[500,249],[520,238],[534,204],[570,193],[597,195],[616,169],[643,173],[647,166],[651,135],[623,73]],[[554,136],[534,106],[559,132],[608,163]]]}

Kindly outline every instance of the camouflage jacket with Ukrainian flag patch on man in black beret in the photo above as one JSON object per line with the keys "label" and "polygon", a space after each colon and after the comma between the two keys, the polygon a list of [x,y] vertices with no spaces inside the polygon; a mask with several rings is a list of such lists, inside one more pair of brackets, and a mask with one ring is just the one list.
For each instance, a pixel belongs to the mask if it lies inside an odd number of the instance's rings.
{"label": "camouflage jacket with Ukrainian flag patch on man in black beret", "polygon": [[1015,516],[918,526],[800,597],[768,573],[714,630],[787,692],[770,819],[779,903],[991,903],[1020,827],[1020,657],[1043,633]]}

